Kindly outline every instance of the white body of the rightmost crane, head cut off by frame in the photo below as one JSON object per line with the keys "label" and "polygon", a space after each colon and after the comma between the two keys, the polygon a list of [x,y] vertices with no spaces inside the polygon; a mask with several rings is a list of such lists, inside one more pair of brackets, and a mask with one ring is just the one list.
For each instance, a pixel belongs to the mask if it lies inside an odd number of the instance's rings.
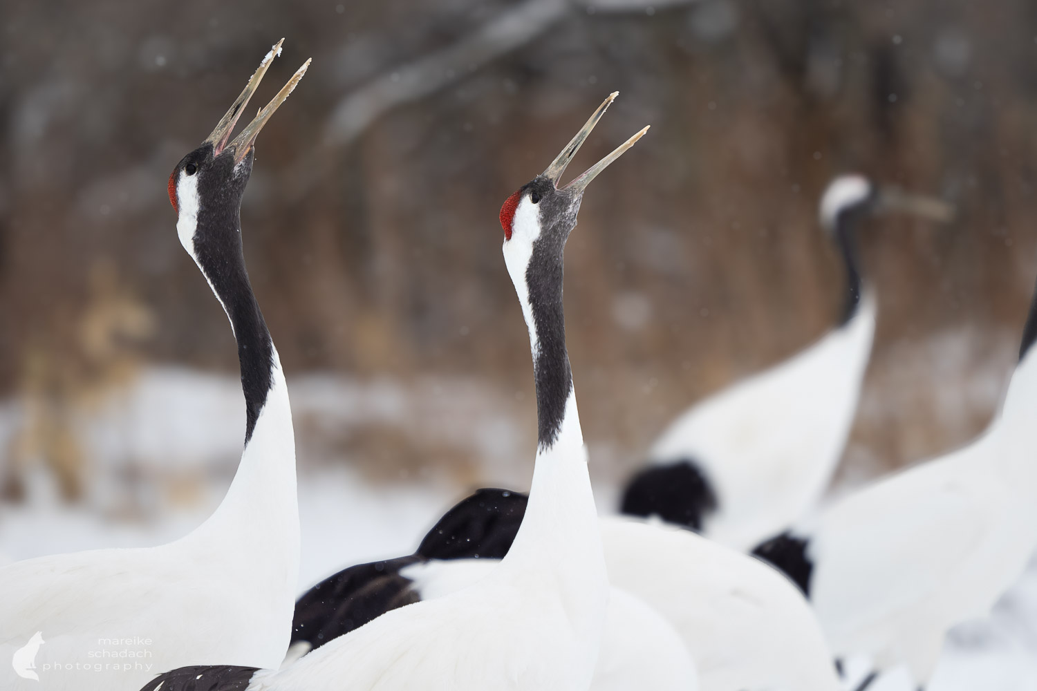
{"label": "white body of the rightmost crane, head cut off by frame", "polygon": [[810,600],[840,656],[932,674],[954,625],[986,615],[1037,548],[1037,356],[1017,365],[1002,411],[968,447],[866,487],[796,530]]}

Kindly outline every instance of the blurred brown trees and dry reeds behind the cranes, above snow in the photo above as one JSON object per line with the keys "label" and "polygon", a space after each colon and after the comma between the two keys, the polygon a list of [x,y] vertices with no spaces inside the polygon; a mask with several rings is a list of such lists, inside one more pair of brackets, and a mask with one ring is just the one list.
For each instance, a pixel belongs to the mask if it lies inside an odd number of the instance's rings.
{"label": "blurred brown trees and dry reeds behind the cranes, above snow", "polygon": [[[0,449],[9,498],[16,459],[84,463],[65,423],[145,366],[236,374],[166,179],[281,36],[257,104],[313,65],[259,138],[243,229],[289,381],[478,382],[531,453],[497,213],[612,90],[571,174],[652,129],[590,188],[566,252],[605,477],[832,324],[843,278],[816,202],[840,172],[959,210],[862,233],[880,309],[844,471],[968,439],[1011,371],[1037,278],[1033,2],[3,0],[0,18],[0,394],[30,410]],[[432,462],[397,432],[335,443],[361,464]],[[58,474],[75,496],[76,471]]]}

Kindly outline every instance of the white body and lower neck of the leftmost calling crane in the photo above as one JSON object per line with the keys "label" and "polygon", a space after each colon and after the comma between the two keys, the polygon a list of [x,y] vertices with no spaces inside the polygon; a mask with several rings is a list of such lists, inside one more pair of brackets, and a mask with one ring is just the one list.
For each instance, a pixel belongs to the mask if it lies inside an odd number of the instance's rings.
{"label": "white body and lower neck of the leftmost calling crane", "polygon": [[[105,549],[0,569],[0,660],[36,631],[48,691],[136,690],[156,673],[196,664],[276,667],[291,630],[299,578],[295,443],[287,392],[275,385],[217,512],[187,537],[143,549]],[[101,639],[140,638],[141,669],[113,663]],[[91,653],[94,654],[91,656]],[[136,660],[115,660],[135,663]],[[87,669],[45,664],[90,665]],[[15,689],[9,665],[0,688]]]}

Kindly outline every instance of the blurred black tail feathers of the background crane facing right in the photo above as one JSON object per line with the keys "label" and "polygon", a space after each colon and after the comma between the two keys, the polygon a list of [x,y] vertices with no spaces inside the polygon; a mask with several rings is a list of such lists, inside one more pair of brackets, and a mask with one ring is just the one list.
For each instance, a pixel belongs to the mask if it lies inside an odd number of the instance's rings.
{"label": "blurred black tail feathers of the background crane facing right", "polygon": [[629,516],[658,516],[701,530],[705,517],[717,511],[709,479],[692,459],[651,465],[635,474],[623,490],[619,511]]}

